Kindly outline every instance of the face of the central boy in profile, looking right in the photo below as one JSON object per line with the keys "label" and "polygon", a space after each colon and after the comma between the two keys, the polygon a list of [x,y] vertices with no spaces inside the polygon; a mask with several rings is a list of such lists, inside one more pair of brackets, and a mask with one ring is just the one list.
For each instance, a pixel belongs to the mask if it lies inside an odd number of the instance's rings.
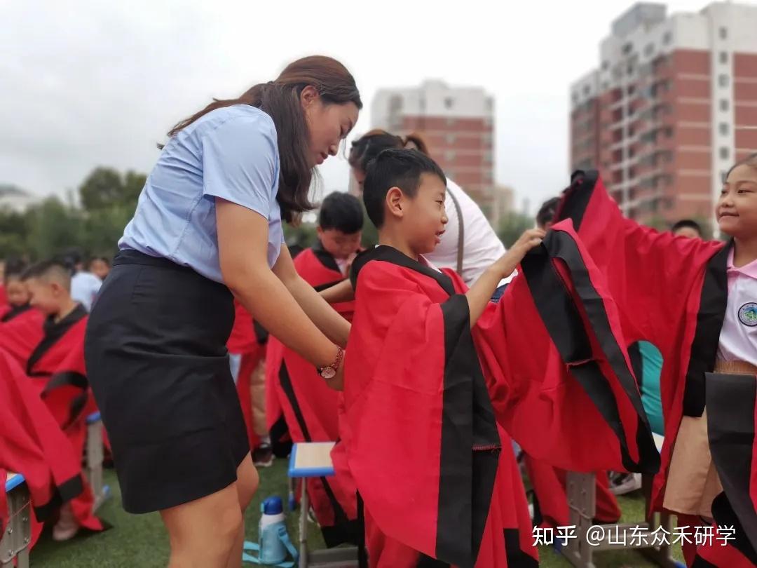
{"label": "face of the central boy in profile, looking right", "polygon": [[447,224],[444,197],[447,186],[433,173],[422,173],[415,198],[403,197],[403,233],[417,254],[434,251]]}

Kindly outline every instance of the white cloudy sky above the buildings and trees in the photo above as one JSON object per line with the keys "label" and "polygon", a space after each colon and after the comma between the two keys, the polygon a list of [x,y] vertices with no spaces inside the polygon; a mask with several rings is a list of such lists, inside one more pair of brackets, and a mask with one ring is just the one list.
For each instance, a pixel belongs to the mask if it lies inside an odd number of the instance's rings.
{"label": "white cloudy sky above the buildings and trees", "polygon": [[[568,176],[569,83],[631,2],[0,0],[0,183],[45,195],[93,167],[149,171],[155,142],[210,97],[302,55],[340,59],[366,102],[424,78],[496,97],[496,179],[533,209]],[[704,0],[672,2],[694,11]],[[347,164],[322,167],[346,189]]]}

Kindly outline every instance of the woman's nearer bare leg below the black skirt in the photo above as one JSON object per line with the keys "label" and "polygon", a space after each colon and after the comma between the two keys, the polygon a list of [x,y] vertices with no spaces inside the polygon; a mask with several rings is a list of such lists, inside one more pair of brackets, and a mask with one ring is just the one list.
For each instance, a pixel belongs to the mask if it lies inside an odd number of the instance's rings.
{"label": "woman's nearer bare leg below the black skirt", "polygon": [[[171,544],[169,568],[226,568],[244,531],[237,484],[207,497],[164,509],[160,517]],[[241,551],[238,563],[241,563]]]}

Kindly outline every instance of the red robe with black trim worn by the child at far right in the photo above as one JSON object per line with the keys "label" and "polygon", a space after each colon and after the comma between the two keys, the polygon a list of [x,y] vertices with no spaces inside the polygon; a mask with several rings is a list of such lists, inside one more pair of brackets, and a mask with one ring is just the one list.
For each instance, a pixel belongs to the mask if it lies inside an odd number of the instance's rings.
{"label": "red robe with black trim worn by the child at far right", "polygon": [[[757,489],[757,460],[752,485],[737,492],[724,479],[744,460],[752,461],[752,443],[741,440],[738,460],[718,458],[722,438],[713,438],[721,425],[711,415],[706,373],[715,368],[721,327],[727,307],[727,257],[732,243],[704,242],[675,237],[640,226],[622,216],[609,197],[596,171],[578,171],[565,195],[556,217],[571,219],[581,241],[590,251],[597,267],[606,274],[609,289],[621,311],[621,325],[628,345],[646,340],[662,353],[664,364],[660,376],[662,410],[665,416],[665,443],[662,466],[653,485],[652,507],[662,510],[665,483],[681,418],[708,414],[710,452],[727,495],[748,532],[748,541],[757,548],[757,524],[746,517],[755,512],[755,498],[746,494]],[[751,381],[747,380],[747,384]],[[716,386],[716,383],[713,382]],[[740,402],[737,392],[724,392],[721,406]],[[731,422],[727,411],[721,414],[722,427]],[[753,408],[752,408],[753,414]],[[742,482],[746,483],[740,476]],[[746,494],[745,494],[746,491]],[[736,503],[746,504],[736,507]],[[722,508],[722,507],[721,507]],[[715,514],[715,510],[713,510]],[[721,511],[722,514],[722,511]]]}

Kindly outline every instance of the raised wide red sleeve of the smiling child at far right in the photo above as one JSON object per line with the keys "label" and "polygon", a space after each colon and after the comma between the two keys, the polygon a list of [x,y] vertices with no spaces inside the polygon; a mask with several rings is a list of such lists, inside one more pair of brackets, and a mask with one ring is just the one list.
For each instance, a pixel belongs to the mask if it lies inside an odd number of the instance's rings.
{"label": "raised wide red sleeve of the smiling child at far right", "polygon": [[574,174],[556,213],[556,221],[564,219],[606,276],[629,344],[645,339],[665,353],[675,339],[671,329],[690,317],[704,265],[723,243],[660,233],[623,217],[594,170]]}

